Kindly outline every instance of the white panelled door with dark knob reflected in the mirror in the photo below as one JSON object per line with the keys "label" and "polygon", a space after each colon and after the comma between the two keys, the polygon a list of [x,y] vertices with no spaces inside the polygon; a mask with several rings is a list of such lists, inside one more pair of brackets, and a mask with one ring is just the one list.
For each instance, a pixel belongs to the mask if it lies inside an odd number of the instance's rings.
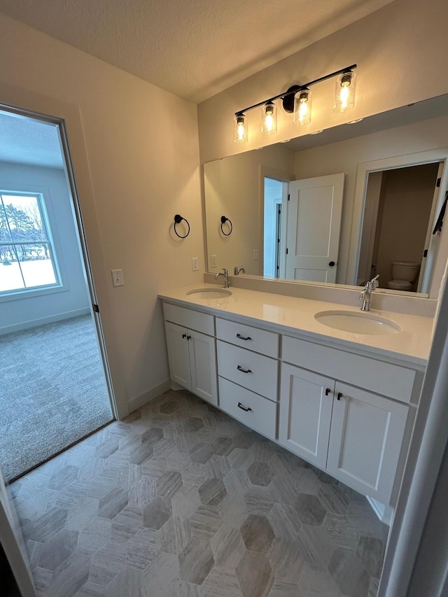
{"label": "white panelled door with dark knob reflected in the mirror", "polygon": [[344,173],[289,183],[286,278],[335,283]]}

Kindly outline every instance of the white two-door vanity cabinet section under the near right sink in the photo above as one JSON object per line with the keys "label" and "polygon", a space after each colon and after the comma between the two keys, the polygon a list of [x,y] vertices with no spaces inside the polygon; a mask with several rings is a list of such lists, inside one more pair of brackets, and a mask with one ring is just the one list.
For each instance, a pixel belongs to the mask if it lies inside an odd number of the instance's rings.
{"label": "white two-door vanity cabinet section under the near right sink", "polygon": [[[282,358],[307,369],[282,364],[279,443],[356,491],[390,503],[415,372],[290,337],[283,337]],[[360,375],[367,390],[344,383],[358,383]],[[376,387],[389,388],[394,399],[371,391]]]}

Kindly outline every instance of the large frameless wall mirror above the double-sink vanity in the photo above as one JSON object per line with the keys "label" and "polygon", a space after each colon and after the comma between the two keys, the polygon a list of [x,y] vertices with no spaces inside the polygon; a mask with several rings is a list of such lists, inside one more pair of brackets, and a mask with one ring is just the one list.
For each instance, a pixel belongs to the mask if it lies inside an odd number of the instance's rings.
{"label": "large frameless wall mirror above the double-sink vanity", "polygon": [[441,96],[208,162],[207,271],[428,295],[447,158]]}

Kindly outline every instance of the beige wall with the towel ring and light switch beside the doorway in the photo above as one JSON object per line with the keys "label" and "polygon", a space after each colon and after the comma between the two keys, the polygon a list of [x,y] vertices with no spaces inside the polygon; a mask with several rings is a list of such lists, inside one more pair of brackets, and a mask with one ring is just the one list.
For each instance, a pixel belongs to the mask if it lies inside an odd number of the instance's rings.
{"label": "beige wall with the towel ring and light switch beside the doorway", "polygon": [[[106,349],[125,414],[130,400],[135,407],[167,387],[158,292],[202,280],[197,108],[3,15],[0,101],[57,110],[53,115],[66,119]],[[176,213],[190,222],[183,241],[172,232]],[[192,272],[192,257],[199,258],[199,272]],[[119,268],[125,286],[113,288],[110,270]]]}

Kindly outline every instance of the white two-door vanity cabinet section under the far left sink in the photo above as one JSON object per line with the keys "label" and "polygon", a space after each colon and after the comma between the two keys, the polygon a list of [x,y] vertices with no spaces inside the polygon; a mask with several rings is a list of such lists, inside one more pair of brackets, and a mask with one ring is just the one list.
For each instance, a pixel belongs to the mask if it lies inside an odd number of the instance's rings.
{"label": "white two-door vanity cabinet section under the far left sink", "polygon": [[218,405],[214,317],[168,303],[163,309],[172,380]]}

